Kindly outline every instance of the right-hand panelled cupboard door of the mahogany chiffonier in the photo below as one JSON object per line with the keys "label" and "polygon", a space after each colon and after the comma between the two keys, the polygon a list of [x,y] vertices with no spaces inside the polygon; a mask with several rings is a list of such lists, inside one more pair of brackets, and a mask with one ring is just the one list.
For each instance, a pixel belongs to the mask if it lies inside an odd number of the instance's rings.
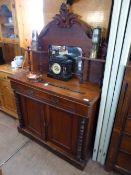
{"label": "right-hand panelled cupboard door of the mahogany chiffonier", "polygon": [[67,153],[75,154],[79,118],[63,110],[48,106],[48,136],[51,144]]}

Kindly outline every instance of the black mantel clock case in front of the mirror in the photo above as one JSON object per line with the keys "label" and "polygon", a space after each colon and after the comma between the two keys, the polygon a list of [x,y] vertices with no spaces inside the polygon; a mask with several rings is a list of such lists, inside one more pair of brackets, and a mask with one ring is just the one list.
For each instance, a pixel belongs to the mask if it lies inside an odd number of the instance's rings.
{"label": "black mantel clock case in front of the mirror", "polygon": [[[61,72],[59,74],[55,74],[51,69],[54,63],[59,64],[61,67]],[[66,56],[52,58],[49,61],[49,71],[47,76],[63,81],[70,80],[72,78],[72,60],[69,60]]]}

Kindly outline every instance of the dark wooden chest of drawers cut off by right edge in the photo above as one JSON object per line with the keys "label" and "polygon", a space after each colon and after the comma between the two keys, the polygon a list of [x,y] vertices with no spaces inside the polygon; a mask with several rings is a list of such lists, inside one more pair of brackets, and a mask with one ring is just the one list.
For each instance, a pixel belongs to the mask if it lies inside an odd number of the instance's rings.
{"label": "dark wooden chest of drawers cut off by right edge", "polygon": [[106,168],[131,174],[131,65],[126,72],[121,89],[118,110],[113,127]]}

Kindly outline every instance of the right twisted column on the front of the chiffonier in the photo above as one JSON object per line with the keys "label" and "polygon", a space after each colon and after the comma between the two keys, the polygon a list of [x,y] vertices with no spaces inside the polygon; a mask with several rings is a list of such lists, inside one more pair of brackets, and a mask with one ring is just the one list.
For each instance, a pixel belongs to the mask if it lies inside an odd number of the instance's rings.
{"label": "right twisted column on the front of the chiffonier", "polygon": [[77,153],[76,153],[76,158],[79,161],[81,161],[81,155],[82,155],[82,146],[83,146],[85,124],[86,124],[86,119],[81,118],[80,119],[79,136],[78,136],[78,142],[77,142]]}

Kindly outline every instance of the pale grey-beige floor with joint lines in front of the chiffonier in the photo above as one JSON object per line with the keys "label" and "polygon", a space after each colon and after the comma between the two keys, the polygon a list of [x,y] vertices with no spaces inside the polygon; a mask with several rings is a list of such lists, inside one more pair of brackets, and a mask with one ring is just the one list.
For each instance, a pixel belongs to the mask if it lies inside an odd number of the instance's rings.
{"label": "pale grey-beige floor with joint lines in front of the chiffonier", "polygon": [[90,160],[80,171],[17,131],[18,122],[0,112],[0,168],[3,175],[118,175]]}

